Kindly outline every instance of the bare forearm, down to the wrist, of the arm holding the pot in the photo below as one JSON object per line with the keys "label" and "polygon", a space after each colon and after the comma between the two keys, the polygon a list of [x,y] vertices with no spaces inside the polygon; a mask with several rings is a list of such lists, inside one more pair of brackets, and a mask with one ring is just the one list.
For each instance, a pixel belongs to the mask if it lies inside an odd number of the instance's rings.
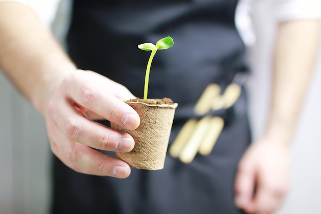
{"label": "bare forearm, down to the wrist, of the arm holding the pot", "polygon": [[48,95],[75,66],[27,6],[0,3],[0,32],[0,67],[44,113]]}

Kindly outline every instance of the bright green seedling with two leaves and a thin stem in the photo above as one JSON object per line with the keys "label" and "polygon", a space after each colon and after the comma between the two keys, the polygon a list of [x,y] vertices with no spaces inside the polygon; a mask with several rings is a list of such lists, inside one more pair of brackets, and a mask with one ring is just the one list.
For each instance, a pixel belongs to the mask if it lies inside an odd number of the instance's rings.
{"label": "bright green seedling with two leaves and a thin stem", "polygon": [[147,63],[146,74],[145,74],[144,100],[147,100],[149,72],[150,72],[150,67],[152,65],[152,61],[156,51],[168,49],[172,47],[173,44],[174,44],[173,39],[170,36],[167,36],[165,38],[161,38],[160,40],[158,40],[156,45],[154,45],[153,43],[144,43],[144,44],[138,45],[138,48],[141,50],[152,51]]}

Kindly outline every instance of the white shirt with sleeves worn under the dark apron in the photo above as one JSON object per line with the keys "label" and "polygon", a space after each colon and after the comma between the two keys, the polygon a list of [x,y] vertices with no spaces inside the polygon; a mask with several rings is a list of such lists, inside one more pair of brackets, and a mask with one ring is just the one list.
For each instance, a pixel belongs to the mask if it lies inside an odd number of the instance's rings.
{"label": "white shirt with sleeves worn under the dark apron", "polygon": [[[8,0],[0,0],[0,2]],[[49,26],[55,18],[58,4],[61,1],[72,0],[11,0],[26,4],[33,8]],[[77,1],[77,0],[74,0]],[[133,0],[134,1],[134,0]],[[264,5],[265,8],[256,10],[256,6]],[[271,87],[271,53],[272,35],[269,22],[283,22],[296,19],[321,18],[321,0],[239,0],[240,13],[236,11],[236,25],[243,40],[249,46],[255,43],[255,37],[264,37],[256,42],[254,54],[252,54],[253,72],[248,80],[250,88],[250,118],[253,130],[253,138],[256,139],[263,133],[266,123],[266,113],[269,106],[269,91]],[[268,8],[266,8],[268,7]],[[256,13],[253,15],[253,12]],[[258,17],[257,13],[265,13],[264,17]],[[238,14],[237,14],[238,13]],[[243,13],[243,14],[242,14]],[[237,16],[239,15],[239,16]],[[255,30],[251,29],[255,23]],[[273,30],[272,30],[273,31]],[[256,35],[259,33],[259,35]],[[251,90],[252,89],[252,90]]]}

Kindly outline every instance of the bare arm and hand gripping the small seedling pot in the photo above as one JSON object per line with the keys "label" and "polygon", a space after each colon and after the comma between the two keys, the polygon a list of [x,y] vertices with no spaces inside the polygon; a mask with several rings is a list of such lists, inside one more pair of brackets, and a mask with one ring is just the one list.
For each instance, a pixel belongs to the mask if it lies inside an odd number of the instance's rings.
{"label": "bare arm and hand gripping the small seedling pot", "polygon": [[0,67],[45,118],[52,152],[83,173],[126,178],[124,161],[92,148],[130,151],[133,138],[88,117],[93,112],[135,129],[139,116],[122,100],[124,86],[92,71],[77,70],[37,15],[27,6],[0,3]]}

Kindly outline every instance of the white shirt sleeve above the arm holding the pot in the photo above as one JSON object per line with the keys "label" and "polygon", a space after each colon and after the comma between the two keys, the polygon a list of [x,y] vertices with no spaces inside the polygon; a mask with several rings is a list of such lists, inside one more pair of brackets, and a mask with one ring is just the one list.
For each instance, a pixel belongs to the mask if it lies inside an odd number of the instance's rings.
{"label": "white shirt sleeve above the arm holding the pot", "polygon": [[60,0],[0,0],[0,2],[18,2],[31,7],[50,26],[54,21]]}

